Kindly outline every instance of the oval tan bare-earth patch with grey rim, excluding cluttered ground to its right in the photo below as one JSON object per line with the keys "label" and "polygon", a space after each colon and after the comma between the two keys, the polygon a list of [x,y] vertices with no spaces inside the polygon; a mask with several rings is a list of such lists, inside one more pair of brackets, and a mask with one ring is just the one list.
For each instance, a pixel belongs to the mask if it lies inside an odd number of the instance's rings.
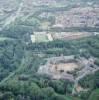
{"label": "oval tan bare-earth patch with grey rim, excluding cluttered ground to its right", "polygon": [[[72,72],[82,68],[79,61],[73,56],[51,58],[38,70],[39,74],[47,74],[52,79],[70,79],[74,80]],[[71,74],[69,74],[69,72]]]}

